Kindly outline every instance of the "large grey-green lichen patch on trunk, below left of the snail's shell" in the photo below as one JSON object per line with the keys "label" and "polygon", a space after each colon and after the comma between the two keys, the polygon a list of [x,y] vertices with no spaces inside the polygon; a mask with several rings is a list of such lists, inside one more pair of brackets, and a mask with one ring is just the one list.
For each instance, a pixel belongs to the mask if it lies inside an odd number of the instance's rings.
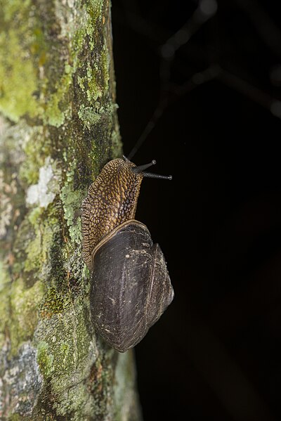
{"label": "large grey-green lichen patch on trunk, below left of the snail's shell", "polygon": [[84,301],[79,298],[63,315],[45,320],[35,338],[41,373],[50,381],[52,394],[57,396],[55,413],[67,415],[71,408],[77,414],[73,420],[81,419],[82,407],[89,405],[89,415],[93,413],[86,378],[96,360],[96,345],[85,321]]}

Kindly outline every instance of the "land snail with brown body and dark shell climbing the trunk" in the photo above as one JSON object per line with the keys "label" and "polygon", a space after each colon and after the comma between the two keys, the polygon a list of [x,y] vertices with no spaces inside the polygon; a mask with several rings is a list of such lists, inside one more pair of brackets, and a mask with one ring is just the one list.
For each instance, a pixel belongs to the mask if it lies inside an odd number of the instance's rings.
{"label": "land snail with brown body and dark shell climbing the trunk", "polygon": [[107,162],[81,207],[82,258],[91,271],[91,320],[105,342],[138,344],[174,298],[166,261],[148,228],[134,219],[145,171],[126,157]]}

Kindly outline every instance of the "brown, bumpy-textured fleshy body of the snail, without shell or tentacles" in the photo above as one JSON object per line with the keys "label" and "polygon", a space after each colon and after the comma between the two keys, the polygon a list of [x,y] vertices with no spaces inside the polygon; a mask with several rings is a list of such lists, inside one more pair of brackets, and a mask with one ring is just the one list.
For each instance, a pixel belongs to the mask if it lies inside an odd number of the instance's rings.
{"label": "brown, bumpy-textured fleshy body of the snail, without shell or tentacles", "polygon": [[82,258],[92,270],[91,254],[98,242],[136,214],[143,175],[131,171],[133,162],[108,162],[91,184],[81,207]]}

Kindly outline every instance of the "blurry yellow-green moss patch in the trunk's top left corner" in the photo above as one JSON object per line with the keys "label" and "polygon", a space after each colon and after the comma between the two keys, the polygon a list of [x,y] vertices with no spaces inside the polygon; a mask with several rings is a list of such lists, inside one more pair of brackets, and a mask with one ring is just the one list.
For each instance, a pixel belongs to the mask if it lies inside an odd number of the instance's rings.
{"label": "blurry yellow-green moss patch in the trunk's top left corner", "polygon": [[[46,124],[60,127],[70,116],[67,94],[72,82],[72,67],[65,63],[65,73],[52,75],[55,92],[46,92],[46,77],[42,66],[47,64],[49,46],[41,30],[40,18],[34,13],[32,1],[0,0],[3,22],[0,18],[0,110],[18,122],[23,115],[41,117]],[[20,25],[18,24],[20,22]],[[46,24],[47,25],[47,24]],[[41,91],[41,96],[39,96]],[[42,101],[43,100],[43,101]],[[45,105],[46,103],[46,105]]]}

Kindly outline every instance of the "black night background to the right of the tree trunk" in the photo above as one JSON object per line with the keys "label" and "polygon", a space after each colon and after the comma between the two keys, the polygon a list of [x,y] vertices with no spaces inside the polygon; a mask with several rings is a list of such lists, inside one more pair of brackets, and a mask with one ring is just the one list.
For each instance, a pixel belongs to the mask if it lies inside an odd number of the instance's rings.
{"label": "black night background to the right of the tree trunk", "polygon": [[136,346],[145,421],[281,420],[277,4],[112,1],[124,153],[158,110],[133,162],[174,176],[145,179],[137,211],[175,290]]}

